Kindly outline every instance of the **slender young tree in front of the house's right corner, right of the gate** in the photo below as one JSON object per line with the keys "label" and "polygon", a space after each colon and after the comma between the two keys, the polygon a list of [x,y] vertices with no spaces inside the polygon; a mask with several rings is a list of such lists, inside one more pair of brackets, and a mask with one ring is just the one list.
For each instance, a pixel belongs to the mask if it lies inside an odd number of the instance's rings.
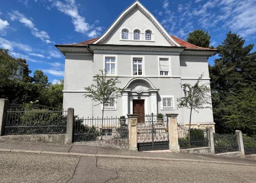
{"label": "slender young tree in front of the house's right corner, right of the gate", "polygon": [[188,143],[190,145],[190,126],[191,126],[191,114],[192,110],[199,113],[198,109],[211,108],[210,102],[210,88],[207,84],[199,85],[202,80],[203,74],[198,78],[195,85],[183,84],[184,96],[178,98],[178,108],[187,108],[190,110],[189,116],[189,128],[188,128]]}

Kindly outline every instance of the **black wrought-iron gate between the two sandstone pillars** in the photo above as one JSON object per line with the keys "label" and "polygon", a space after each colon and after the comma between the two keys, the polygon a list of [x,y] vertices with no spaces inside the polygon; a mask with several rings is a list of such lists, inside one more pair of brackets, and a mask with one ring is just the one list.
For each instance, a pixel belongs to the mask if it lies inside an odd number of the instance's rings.
{"label": "black wrought-iron gate between the two sandstone pillars", "polygon": [[145,115],[144,121],[137,125],[137,143],[139,151],[168,149],[167,117]]}

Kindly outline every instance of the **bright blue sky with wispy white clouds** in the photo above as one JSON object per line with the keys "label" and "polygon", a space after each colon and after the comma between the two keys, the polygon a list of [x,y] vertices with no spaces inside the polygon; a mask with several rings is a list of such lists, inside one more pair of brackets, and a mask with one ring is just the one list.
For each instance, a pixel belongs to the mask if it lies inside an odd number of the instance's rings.
{"label": "bright blue sky with wispy white clouds", "polygon": [[[102,34],[133,0],[10,0],[1,1],[0,48],[25,58],[32,72],[43,70],[49,81],[63,79],[65,57],[54,44],[81,42]],[[211,45],[219,45],[229,30],[256,42],[256,1],[141,0],[172,35],[186,39],[203,29]],[[254,48],[253,50],[256,50]],[[214,64],[214,58],[209,59]]]}

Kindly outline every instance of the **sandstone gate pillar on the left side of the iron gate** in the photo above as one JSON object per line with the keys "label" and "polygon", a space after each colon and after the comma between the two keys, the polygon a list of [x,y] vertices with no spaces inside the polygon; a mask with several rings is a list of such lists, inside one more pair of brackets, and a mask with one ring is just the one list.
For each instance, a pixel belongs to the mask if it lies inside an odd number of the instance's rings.
{"label": "sandstone gate pillar on the left side of the iron gate", "polygon": [[137,114],[127,114],[129,118],[129,148],[138,151],[137,147]]}

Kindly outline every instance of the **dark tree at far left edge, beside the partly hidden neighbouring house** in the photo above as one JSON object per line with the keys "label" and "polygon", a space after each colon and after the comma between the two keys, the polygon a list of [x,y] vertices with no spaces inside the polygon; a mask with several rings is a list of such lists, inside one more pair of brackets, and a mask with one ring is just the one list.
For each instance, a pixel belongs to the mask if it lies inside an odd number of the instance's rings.
{"label": "dark tree at far left edge, beside the partly hidden neighbouring house", "polygon": [[8,54],[8,49],[0,49],[0,85],[2,87],[15,76],[17,66],[16,60]]}

